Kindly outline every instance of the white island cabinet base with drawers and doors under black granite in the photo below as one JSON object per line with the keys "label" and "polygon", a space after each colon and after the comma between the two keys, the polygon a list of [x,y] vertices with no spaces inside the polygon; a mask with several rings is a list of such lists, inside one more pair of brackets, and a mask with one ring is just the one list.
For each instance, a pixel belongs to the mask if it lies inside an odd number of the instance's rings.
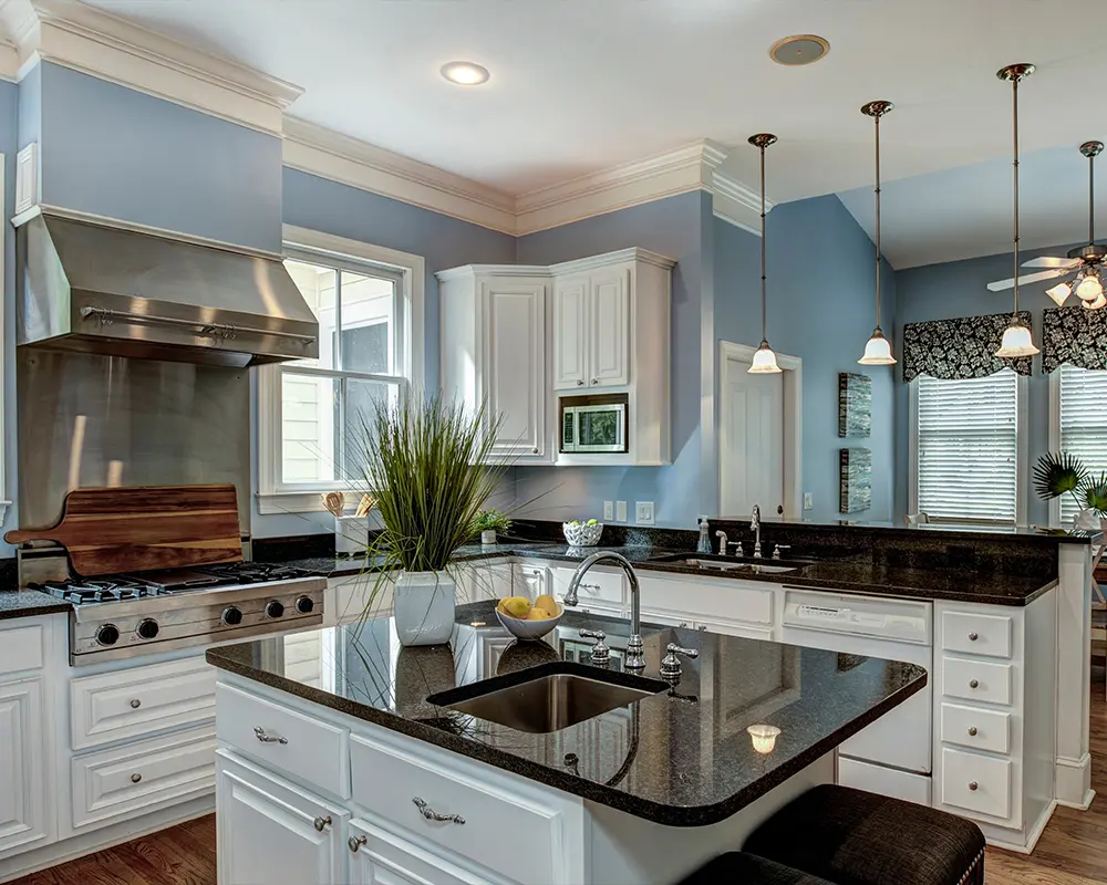
{"label": "white island cabinet base with drawers and doors under black granite", "polygon": [[[665,826],[230,674],[217,694],[219,885],[672,885],[835,773]],[[322,748],[341,775],[312,782]]]}

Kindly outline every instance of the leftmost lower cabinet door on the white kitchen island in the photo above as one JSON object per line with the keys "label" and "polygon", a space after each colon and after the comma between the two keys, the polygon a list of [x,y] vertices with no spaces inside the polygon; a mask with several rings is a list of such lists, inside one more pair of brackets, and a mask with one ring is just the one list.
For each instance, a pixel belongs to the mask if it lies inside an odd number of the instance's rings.
{"label": "leftmost lower cabinet door on the white kitchen island", "polygon": [[221,752],[217,766],[219,885],[348,881],[346,812]]}

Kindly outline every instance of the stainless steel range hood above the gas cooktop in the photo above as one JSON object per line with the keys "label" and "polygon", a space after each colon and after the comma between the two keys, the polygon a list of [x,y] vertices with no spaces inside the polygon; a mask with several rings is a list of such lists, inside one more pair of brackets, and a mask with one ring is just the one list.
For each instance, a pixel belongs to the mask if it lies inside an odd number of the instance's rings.
{"label": "stainless steel range hood above the gas cooktop", "polygon": [[43,211],[17,231],[17,343],[247,366],[319,355],[280,261]]}

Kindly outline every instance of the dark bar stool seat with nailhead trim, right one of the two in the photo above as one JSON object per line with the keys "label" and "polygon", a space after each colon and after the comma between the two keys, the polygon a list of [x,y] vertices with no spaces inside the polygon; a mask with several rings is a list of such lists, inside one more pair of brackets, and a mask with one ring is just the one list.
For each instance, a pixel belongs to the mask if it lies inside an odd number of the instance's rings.
{"label": "dark bar stool seat with nailhead trim, right one of the two", "polygon": [[984,835],[976,824],[834,784],[785,805],[744,850],[838,885],[984,883]]}

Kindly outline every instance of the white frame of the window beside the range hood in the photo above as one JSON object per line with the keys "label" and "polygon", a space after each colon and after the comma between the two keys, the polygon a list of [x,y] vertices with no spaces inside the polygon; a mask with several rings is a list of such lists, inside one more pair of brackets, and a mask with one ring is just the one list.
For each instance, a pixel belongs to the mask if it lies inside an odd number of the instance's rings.
{"label": "white frame of the window beside the range hood", "polygon": [[[425,266],[422,256],[401,252],[382,246],[338,237],[321,231],[283,226],[283,254],[293,261],[333,266],[352,273],[366,269],[393,273],[397,278],[396,299],[401,317],[396,341],[397,362],[394,375],[364,372],[321,369],[312,366],[288,365],[297,375],[319,375],[338,378],[359,378],[394,383],[405,379],[402,393],[422,391],[424,386],[425,321],[424,288]],[[369,267],[366,267],[369,266]],[[353,482],[284,482],[281,455],[281,378],[286,366],[259,366],[258,378],[258,513],[310,513],[325,510],[321,496],[328,491],[359,491]]]}

